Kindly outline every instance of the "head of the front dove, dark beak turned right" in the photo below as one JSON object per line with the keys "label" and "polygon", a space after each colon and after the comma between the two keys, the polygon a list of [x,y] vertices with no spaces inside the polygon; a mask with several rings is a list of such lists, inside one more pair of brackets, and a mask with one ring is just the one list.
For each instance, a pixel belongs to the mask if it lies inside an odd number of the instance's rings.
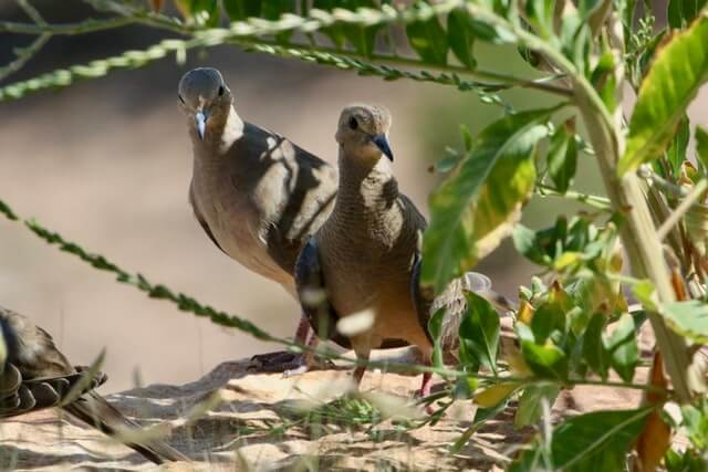
{"label": "head of the front dove, dark beak turned right", "polygon": [[350,105],[340,115],[335,138],[347,156],[366,160],[386,156],[393,161],[389,128],[391,113],[383,106]]}

